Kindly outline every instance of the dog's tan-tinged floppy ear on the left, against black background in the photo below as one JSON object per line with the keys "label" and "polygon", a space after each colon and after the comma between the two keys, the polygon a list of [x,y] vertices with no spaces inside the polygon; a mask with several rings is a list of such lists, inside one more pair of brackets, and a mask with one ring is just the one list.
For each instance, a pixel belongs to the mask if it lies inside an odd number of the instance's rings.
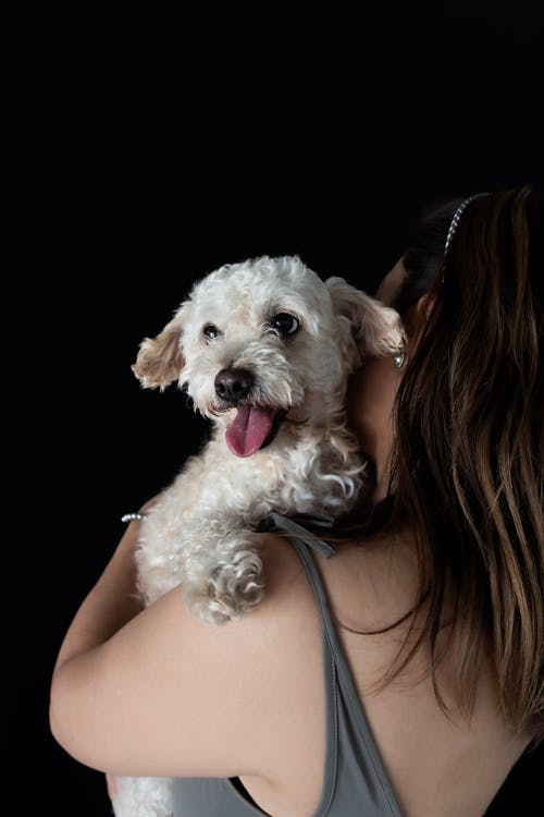
{"label": "dog's tan-tinged floppy ear on the left, against black background", "polygon": [[185,362],[181,349],[181,310],[156,338],[145,338],[139,346],[132,370],[146,389],[163,391],[180,377]]}

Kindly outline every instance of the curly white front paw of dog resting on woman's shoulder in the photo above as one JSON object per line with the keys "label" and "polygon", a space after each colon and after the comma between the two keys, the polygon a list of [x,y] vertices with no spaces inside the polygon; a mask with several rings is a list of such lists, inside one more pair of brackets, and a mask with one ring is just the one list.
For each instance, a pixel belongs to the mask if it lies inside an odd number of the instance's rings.
{"label": "curly white front paw of dog resting on woman's shoulder", "polygon": [[255,551],[239,550],[226,563],[209,565],[199,582],[185,584],[187,606],[203,621],[224,624],[250,612],[261,600],[262,562]]}

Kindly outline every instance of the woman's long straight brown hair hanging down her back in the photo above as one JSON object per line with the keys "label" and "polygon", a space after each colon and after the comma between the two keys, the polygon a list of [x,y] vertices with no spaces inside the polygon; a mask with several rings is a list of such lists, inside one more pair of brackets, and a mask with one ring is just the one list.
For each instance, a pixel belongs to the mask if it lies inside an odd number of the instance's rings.
{"label": "woman's long straight brown hair hanging down her back", "polygon": [[505,719],[537,736],[544,733],[543,243],[542,197],[530,186],[467,207],[406,364],[393,454],[394,516],[408,515],[416,531],[433,659],[447,593],[461,711],[472,711],[489,657]]}

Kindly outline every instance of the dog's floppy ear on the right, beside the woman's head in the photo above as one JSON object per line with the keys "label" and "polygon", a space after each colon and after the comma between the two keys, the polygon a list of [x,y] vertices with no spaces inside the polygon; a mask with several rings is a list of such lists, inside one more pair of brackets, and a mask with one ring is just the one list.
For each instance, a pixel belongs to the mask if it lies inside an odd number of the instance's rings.
{"label": "dog's floppy ear on the right, beside the woman's head", "polygon": [[351,286],[343,278],[327,278],[325,284],[335,312],[349,320],[361,355],[380,357],[403,349],[403,325],[395,309]]}

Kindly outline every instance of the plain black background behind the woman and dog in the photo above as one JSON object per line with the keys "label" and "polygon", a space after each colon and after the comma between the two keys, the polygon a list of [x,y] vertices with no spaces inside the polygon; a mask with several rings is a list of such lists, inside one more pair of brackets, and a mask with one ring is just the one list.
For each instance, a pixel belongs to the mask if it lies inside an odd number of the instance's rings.
{"label": "plain black background behind the woman and dog", "polygon": [[298,253],[373,292],[429,200],[542,183],[535,12],[379,8],[44,2],[8,27],[20,814],[109,813],[49,734],[52,666],[120,515],[205,432],[139,388],[140,340],[224,263]]}

